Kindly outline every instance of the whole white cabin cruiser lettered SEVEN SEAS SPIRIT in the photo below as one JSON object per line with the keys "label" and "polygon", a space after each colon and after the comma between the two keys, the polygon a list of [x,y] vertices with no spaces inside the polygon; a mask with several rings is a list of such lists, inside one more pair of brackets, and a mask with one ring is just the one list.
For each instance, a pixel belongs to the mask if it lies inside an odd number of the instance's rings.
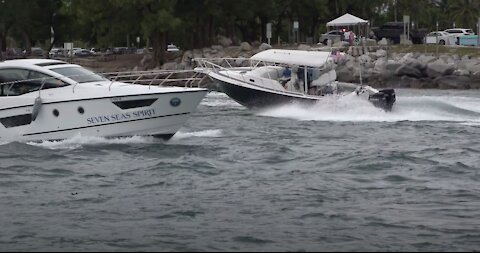
{"label": "whole white cabin cruiser lettered SEVEN SEAS SPIRIT", "polygon": [[113,81],[58,60],[0,62],[0,141],[169,139],[207,92]]}

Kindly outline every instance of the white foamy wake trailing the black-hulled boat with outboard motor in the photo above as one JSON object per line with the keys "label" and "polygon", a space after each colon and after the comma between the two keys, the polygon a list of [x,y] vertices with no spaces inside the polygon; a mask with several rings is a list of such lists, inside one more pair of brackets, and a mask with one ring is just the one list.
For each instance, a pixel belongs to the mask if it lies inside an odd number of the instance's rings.
{"label": "white foamy wake trailing the black-hulled boat with outboard motor", "polygon": [[326,97],[311,107],[285,105],[259,112],[259,116],[300,121],[398,122],[447,121],[480,124],[480,99],[473,97],[412,96],[397,98],[391,112],[374,107],[355,95]]}

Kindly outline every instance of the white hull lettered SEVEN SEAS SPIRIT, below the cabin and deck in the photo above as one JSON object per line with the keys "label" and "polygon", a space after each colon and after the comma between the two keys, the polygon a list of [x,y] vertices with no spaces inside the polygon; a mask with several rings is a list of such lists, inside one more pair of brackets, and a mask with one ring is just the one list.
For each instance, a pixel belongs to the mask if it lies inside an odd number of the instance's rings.
{"label": "white hull lettered SEVEN SEAS SPIRIT, below the cabin and deck", "polygon": [[[75,136],[171,138],[196,110],[207,90],[43,102],[0,109],[0,141],[62,140]],[[22,122],[24,121],[24,122]],[[31,122],[28,122],[31,121]]]}

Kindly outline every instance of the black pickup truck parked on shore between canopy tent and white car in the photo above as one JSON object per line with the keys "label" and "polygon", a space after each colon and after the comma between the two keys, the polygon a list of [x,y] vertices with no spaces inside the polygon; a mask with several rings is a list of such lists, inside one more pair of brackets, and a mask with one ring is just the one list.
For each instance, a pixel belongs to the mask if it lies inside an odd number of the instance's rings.
{"label": "black pickup truck parked on shore between canopy tent and white car", "polygon": [[[372,28],[373,33],[378,40],[383,38],[390,39],[393,43],[400,43],[400,36],[404,34],[403,22],[387,22],[381,27]],[[427,29],[410,29],[410,39],[414,44],[422,44],[425,36],[428,34]]]}

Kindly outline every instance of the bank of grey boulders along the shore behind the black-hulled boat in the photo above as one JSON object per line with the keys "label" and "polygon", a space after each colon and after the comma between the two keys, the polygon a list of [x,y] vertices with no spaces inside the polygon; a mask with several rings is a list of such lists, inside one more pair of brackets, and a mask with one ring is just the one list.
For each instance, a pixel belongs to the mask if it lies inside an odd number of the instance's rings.
{"label": "bank of grey boulders along the shore behind the black-hulled boat", "polygon": [[[272,48],[268,44],[247,42],[240,46],[214,45],[193,51],[176,52],[169,55],[170,61],[161,69],[193,69],[194,58],[250,58],[252,55]],[[284,47],[285,48],[285,47]],[[299,50],[330,51],[329,47],[299,45],[287,47]],[[334,47],[339,56],[337,62],[338,80],[363,83],[377,88],[415,89],[480,89],[480,58],[456,54],[392,53],[381,46],[348,47],[345,44]],[[134,70],[151,66],[148,54]]]}

